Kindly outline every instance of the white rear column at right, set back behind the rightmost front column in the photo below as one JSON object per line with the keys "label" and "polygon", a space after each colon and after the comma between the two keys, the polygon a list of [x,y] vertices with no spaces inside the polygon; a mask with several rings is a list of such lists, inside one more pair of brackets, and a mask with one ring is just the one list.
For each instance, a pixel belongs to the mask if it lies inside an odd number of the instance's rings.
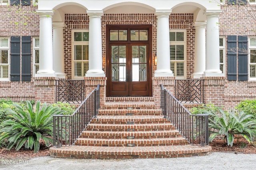
{"label": "white rear column at right, set back behind the rightmost front column", "polygon": [[194,73],[192,78],[200,78],[204,74],[206,68],[206,43],[205,43],[205,29],[206,22],[196,21],[194,23],[196,30],[195,34],[195,53],[194,53]]}

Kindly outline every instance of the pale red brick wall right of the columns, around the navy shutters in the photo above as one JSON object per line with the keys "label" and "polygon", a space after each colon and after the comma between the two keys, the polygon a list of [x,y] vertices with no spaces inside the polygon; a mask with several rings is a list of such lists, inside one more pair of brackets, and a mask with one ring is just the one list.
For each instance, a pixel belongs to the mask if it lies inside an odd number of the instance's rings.
{"label": "pale red brick wall right of the columns, around the navy shutters", "polygon": [[[220,14],[220,35],[246,35],[248,37],[254,36],[256,22],[253,18],[248,18],[247,14],[250,11],[250,6],[222,6],[223,12]],[[254,7],[255,8],[255,7]],[[254,18],[256,17],[253,15]],[[227,37],[226,37],[227,49]],[[227,51],[226,51],[227,52]],[[237,60],[238,61],[238,60]],[[249,63],[249,58],[248,58]],[[238,63],[237,63],[238,66]],[[249,66],[248,66],[249,67]],[[238,67],[237,67],[238,71]],[[249,70],[248,70],[249,71]],[[226,57],[226,73],[227,75],[227,57]],[[237,78],[238,80],[238,78]],[[234,108],[241,100],[254,100],[256,99],[256,81],[228,81],[226,80],[224,86],[225,108]],[[221,104],[221,103],[220,103]]]}

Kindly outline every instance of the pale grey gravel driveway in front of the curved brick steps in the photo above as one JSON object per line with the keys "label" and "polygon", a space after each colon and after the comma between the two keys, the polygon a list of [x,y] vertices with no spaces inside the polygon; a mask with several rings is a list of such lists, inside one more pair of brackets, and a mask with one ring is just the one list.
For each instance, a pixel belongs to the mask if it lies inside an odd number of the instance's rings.
{"label": "pale grey gravel driveway in front of the curved brick steps", "polygon": [[207,156],[126,160],[65,159],[50,156],[1,161],[3,170],[252,170],[256,154],[213,152]]}

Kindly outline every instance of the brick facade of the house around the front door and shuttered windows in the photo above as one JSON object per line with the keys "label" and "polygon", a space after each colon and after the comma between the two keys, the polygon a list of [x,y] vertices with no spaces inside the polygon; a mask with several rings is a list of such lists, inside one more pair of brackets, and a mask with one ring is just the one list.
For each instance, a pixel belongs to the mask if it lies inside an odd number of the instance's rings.
{"label": "brick facade of the house around the front door and shuttered windows", "polygon": [[[240,7],[245,8],[245,7]],[[16,13],[20,9],[26,12],[28,18],[22,18],[22,12]],[[0,36],[39,36],[39,16],[34,13],[37,7],[34,6],[0,6]],[[219,17],[220,35],[248,35],[253,36],[253,28],[246,15],[241,12],[241,9],[232,6],[222,6],[222,14]],[[7,14],[11,14],[7,16]],[[238,19],[239,18],[239,19]],[[27,25],[22,25],[22,22]],[[195,29],[193,27],[193,14],[171,14],[170,15],[170,29],[186,29],[187,44],[186,44],[186,78],[190,79],[194,72],[194,45],[195,45]],[[19,23],[17,26],[16,23]],[[87,14],[65,14],[64,35],[64,70],[67,79],[72,79],[72,46],[71,46],[71,31],[72,29],[88,29],[89,17]],[[104,14],[101,19],[102,26],[102,61],[103,70],[106,72],[106,25],[107,24],[150,24],[152,25],[152,61],[156,54],[156,29],[157,17],[154,14]],[[22,27],[21,27],[22,25]],[[23,28],[24,27],[24,28]],[[32,40],[32,39],[31,39]],[[226,43],[227,44],[227,43]],[[227,48],[227,47],[226,47]],[[31,49],[31,53],[33,50]],[[33,57],[31,56],[31,61]],[[227,67],[227,59],[226,59]],[[10,68],[10,67],[9,67]],[[31,68],[32,62],[31,62]],[[156,65],[152,64],[152,73]],[[226,68],[227,70],[227,68]],[[32,70],[31,70],[32,74]],[[225,73],[227,75],[227,71]],[[103,85],[101,88],[102,104],[105,101],[106,78],[99,78],[95,82],[90,82],[92,78],[85,78],[86,94],[96,86],[96,82],[100,81]],[[153,97],[155,102],[159,101],[159,84],[164,83],[166,88],[174,92],[174,78],[152,77],[153,81]],[[205,101],[212,102],[216,105],[224,105],[233,108],[241,100],[256,99],[256,81],[228,81],[225,77],[205,77]],[[41,100],[42,102],[54,102],[54,78],[34,78],[31,82],[0,82],[0,98],[11,98],[12,100]]]}

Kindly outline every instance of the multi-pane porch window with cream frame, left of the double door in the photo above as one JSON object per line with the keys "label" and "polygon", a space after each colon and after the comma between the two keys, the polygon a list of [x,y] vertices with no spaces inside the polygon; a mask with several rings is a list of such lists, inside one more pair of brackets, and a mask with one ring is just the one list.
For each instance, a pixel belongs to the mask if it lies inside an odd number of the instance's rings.
{"label": "multi-pane porch window with cream frame, left of the double door", "polygon": [[82,78],[89,69],[89,32],[72,30],[72,75]]}

